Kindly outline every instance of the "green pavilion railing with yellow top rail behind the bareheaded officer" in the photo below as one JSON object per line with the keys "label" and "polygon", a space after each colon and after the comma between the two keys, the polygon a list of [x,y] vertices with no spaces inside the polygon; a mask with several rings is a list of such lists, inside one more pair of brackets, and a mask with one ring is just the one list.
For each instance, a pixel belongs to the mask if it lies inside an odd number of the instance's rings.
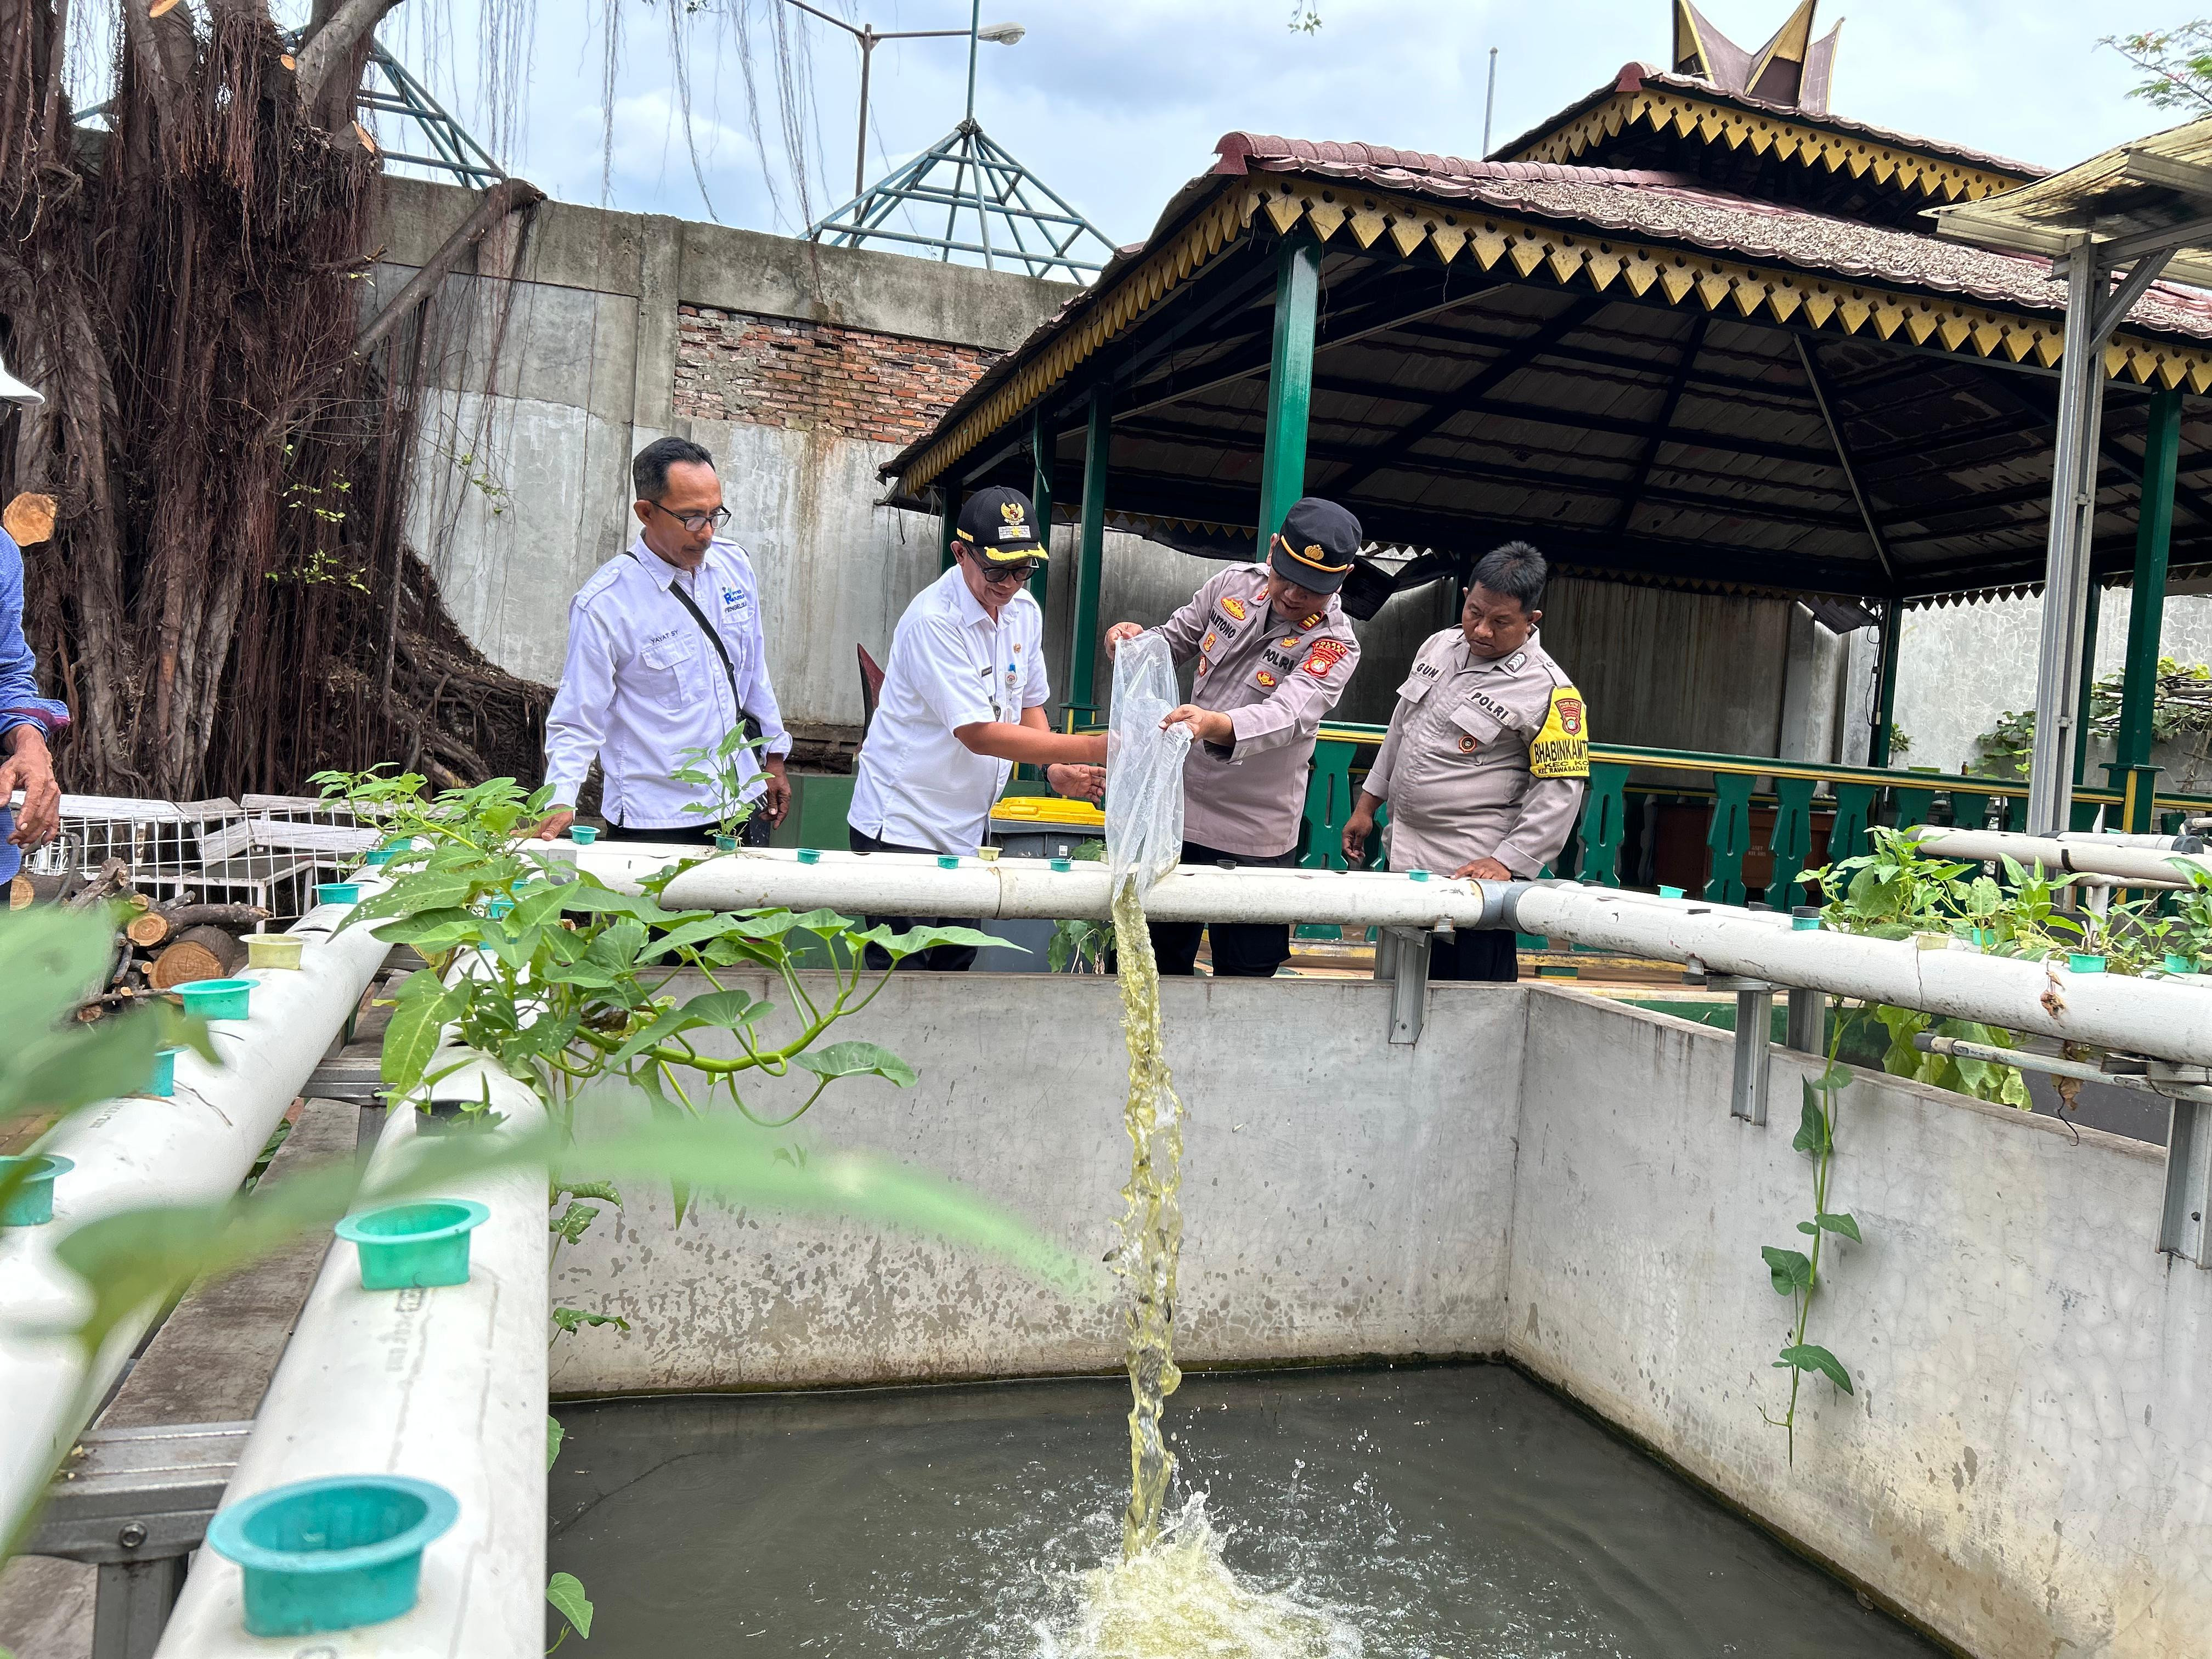
{"label": "green pavilion railing with yellow top rail behind the bareheaded officer", "polygon": [[[1383,741],[1380,726],[1321,728],[1314,770],[1305,787],[1305,843],[1301,863],[1310,869],[1343,869],[1343,827],[1367,774],[1363,750]],[[1681,779],[1681,781],[1674,781]],[[1590,790],[1577,834],[1559,856],[1557,874],[1599,885],[1621,883],[1621,847],[1628,836],[1630,796],[1710,801],[1705,834],[1710,872],[1703,896],[1741,905],[1763,898],[1783,907],[1803,894],[1796,874],[1814,847],[1816,818],[1829,818],[1827,856],[1849,858],[1865,849],[1871,825],[1911,827],[1938,823],[1978,830],[2026,827],[2028,785],[2022,779],[1951,776],[1944,772],[1900,772],[1863,765],[1812,765],[1759,754],[1703,754],[1699,750],[1646,750],[1621,743],[1590,745]],[[2119,821],[2119,790],[2077,787],[2073,827],[2093,830],[2099,810],[2106,827]],[[1772,821],[1761,825],[1765,810]],[[2212,812],[2212,799],[2159,794],[2157,821],[2179,832],[2188,814]],[[1380,814],[1378,814],[1380,816]],[[1765,841],[1759,841],[1759,830]],[[1380,863],[1380,836],[1369,841],[1367,865]],[[1763,887],[1745,887],[1743,869],[1761,854],[1772,858]]]}

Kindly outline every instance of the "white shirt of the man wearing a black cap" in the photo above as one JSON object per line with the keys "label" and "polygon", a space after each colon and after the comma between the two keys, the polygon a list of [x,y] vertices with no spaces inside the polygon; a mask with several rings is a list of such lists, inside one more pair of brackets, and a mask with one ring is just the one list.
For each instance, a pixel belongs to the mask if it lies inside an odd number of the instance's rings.
{"label": "white shirt of the man wearing a black cap", "polygon": [[975,754],[953,732],[1020,726],[1051,697],[1037,602],[1018,591],[993,622],[953,566],[914,595],[891,635],[845,821],[898,847],[973,854],[1013,761]]}

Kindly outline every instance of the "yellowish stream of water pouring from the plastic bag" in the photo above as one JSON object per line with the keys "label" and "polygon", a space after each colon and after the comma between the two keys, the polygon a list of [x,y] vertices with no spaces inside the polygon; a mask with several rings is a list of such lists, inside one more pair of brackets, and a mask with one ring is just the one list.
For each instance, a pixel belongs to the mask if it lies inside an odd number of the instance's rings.
{"label": "yellowish stream of water pouring from the plastic bag", "polygon": [[[1183,1250],[1183,1102],[1168,1077],[1159,1040],[1159,960],[1144,925],[1135,878],[1113,900],[1115,949],[1121,964],[1121,1031],[1128,1040],[1128,1186],[1121,1188],[1121,1250],[1115,1272],[1130,1281],[1128,1310],[1128,1511],[1121,1555],[1135,1562],[1159,1537],[1159,1511],[1175,1478],[1175,1453],[1161,1442],[1159,1418],[1183,1380],[1175,1367],[1175,1267]],[[1203,1522],[1201,1522],[1203,1524]],[[1219,1557],[1217,1557],[1219,1566]],[[1223,1575],[1228,1568],[1221,1568]]]}

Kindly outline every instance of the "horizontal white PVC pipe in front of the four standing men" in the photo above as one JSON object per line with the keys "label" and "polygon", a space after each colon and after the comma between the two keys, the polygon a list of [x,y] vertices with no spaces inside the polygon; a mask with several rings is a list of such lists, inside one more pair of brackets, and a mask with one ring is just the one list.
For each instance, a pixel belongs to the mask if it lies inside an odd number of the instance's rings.
{"label": "horizontal white PVC pipe in front of the four standing men", "polygon": [[[586,865],[588,867],[588,865]],[[847,916],[980,916],[984,920],[1106,920],[1113,914],[1106,865],[1053,869],[1044,858],[936,858],[898,852],[825,852],[803,865],[770,847],[712,858],[677,876],[668,909],[814,909]],[[1498,920],[1495,891],[1482,883],[1413,880],[1378,869],[1212,869],[1181,865],[1144,900],[1159,922],[1363,922],[1380,927],[1482,927]]]}

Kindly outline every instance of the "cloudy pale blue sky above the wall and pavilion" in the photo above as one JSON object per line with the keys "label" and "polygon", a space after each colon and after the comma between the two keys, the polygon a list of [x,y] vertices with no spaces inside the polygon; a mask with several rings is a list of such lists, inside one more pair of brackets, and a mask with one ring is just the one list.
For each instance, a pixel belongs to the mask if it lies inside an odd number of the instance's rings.
{"label": "cloudy pale blue sky above the wall and pavilion", "polygon": [[[967,0],[814,4],[878,31],[962,29],[969,11]],[[1221,133],[1473,157],[1493,46],[1493,144],[1502,144],[1624,62],[1661,62],[1670,44],[1670,0],[1314,7],[1321,27],[1301,33],[1287,27],[1298,11],[1290,0],[987,0],[984,24],[1020,22],[1026,35],[980,49],[975,113],[998,144],[1126,243],[1212,164]],[[801,168],[779,122],[779,9],[799,88]],[[1703,11],[1756,46],[1790,0],[1705,0]],[[2212,0],[1829,0],[1818,27],[1845,20],[1838,115],[2062,166],[2174,122],[2126,97],[2137,73],[2097,35],[2205,11]],[[613,73],[608,20],[619,31]],[[487,29],[507,46],[487,51]],[[757,64],[761,142],[741,35]],[[792,232],[852,195],[858,46],[783,0],[407,0],[383,40],[507,170],[564,201]],[[958,124],[964,77],[962,40],[876,49],[872,181]]]}

